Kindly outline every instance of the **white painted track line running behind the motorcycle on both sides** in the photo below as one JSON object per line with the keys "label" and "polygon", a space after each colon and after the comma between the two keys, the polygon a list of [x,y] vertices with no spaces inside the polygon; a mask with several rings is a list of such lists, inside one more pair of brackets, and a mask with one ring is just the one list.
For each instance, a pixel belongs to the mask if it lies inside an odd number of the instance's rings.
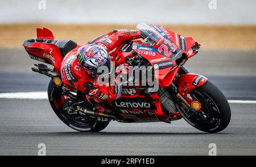
{"label": "white painted track line running behind the motorcycle on both sides", "polygon": [[[47,91],[0,93],[0,98],[7,99],[48,99]],[[256,104],[256,101],[229,100],[229,103]]]}

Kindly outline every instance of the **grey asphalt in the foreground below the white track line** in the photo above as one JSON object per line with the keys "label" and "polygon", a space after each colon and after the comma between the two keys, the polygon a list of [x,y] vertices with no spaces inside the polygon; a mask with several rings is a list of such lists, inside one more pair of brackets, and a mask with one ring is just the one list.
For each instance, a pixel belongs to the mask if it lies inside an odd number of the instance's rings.
{"label": "grey asphalt in the foreground below the white track line", "polygon": [[256,155],[256,104],[231,104],[232,120],[220,133],[204,133],[184,120],[167,123],[110,122],[96,133],[62,123],[47,100],[1,99],[0,155]]}

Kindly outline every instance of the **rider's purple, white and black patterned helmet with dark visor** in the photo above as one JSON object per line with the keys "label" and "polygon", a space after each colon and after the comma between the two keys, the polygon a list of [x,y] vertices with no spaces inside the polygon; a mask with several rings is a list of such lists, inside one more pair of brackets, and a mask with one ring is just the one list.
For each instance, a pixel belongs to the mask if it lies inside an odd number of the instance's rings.
{"label": "rider's purple, white and black patterned helmet with dark visor", "polygon": [[[77,59],[90,76],[106,76],[112,72],[109,53],[101,45],[88,44],[80,47],[77,51]],[[102,68],[98,70],[99,67]]]}

